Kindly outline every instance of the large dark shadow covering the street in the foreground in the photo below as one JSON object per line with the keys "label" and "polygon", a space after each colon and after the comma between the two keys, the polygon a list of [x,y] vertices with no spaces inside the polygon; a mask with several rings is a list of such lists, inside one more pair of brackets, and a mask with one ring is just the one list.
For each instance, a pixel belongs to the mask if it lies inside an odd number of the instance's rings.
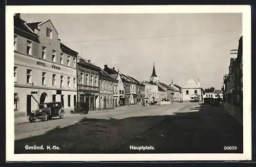
{"label": "large dark shadow covering the street in the foreground", "polygon": [[[125,119],[84,118],[14,142],[14,153],[242,153],[242,126],[221,106],[200,105],[175,115]],[[25,145],[45,150],[26,150]],[[58,146],[59,150],[47,150]],[[154,150],[131,150],[154,146]],[[236,150],[225,150],[235,146]]]}

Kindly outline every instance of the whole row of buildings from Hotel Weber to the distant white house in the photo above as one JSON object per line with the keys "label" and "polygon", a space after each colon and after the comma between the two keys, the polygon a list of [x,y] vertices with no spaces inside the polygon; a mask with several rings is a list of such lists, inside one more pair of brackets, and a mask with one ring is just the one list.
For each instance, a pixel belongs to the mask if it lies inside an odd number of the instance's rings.
{"label": "whole row of buildings from Hotel Weber to the distant white house", "polygon": [[[193,80],[194,81],[194,80]],[[104,69],[61,42],[51,20],[26,22],[14,16],[14,116],[25,117],[38,103],[60,101],[67,112],[79,102],[89,110],[201,96],[199,81],[187,86],[159,82],[155,64],[150,81],[119,69]]]}

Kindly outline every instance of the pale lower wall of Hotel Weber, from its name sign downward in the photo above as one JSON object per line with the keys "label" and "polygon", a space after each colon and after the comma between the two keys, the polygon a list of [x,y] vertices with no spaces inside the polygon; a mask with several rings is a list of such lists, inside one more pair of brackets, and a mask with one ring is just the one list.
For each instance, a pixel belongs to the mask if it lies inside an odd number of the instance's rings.
{"label": "pale lower wall of Hotel Weber, from its name sign downward", "polygon": [[[64,96],[65,111],[74,108],[74,95],[76,95],[76,69],[67,66],[54,64],[50,61],[38,59],[34,56],[14,52],[14,93],[17,94],[19,101],[17,101],[18,108],[15,110],[15,116],[27,115],[27,95],[31,95],[32,91],[38,93],[33,95],[35,99],[40,102],[40,95],[47,93],[47,102],[52,102],[53,95],[56,95],[56,90],[61,90]],[[56,69],[56,67],[58,67]],[[31,70],[30,83],[27,83],[27,70]],[[42,82],[42,73],[45,73],[45,81]],[[55,86],[53,85],[53,74],[55,75]],[[62,87],[60,87],[60,76],[63,76]],[[68,77],[70,77],[68,87]],[[75,79],[75,81],[74,81]],[[68,95],[70,95],[70,106],[68,106]],[[56,95],[56,101],[60,101],[60,95]],[[46,102],[46,101],[45,101]],[[31,110],[36,109],[37,102],[31,99]]]}

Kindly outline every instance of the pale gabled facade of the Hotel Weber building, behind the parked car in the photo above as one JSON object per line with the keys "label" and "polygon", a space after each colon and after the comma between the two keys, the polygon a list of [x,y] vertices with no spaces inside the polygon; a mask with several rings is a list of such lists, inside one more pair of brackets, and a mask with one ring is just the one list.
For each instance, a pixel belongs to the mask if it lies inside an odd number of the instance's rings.
{"label": "pale gabled facade of the Hotel Weber building, behind the parked car", "polygon": [[15,117],[26,117],[42,102],[62,102],[65,112],[76,106],[76,57],[62,50],[50,20],[39,23],[38,29],[28,27],[28,35],[14,27]]}

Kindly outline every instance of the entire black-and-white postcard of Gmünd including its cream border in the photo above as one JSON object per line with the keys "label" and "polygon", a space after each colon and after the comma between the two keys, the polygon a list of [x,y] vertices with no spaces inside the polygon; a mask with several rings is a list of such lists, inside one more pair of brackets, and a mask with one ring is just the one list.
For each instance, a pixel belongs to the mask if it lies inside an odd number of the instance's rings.
{"label": "entire black-and-white postcard of Gm\u00fcnd including its cream border", "polygon": [[251,159],[249,6],[6,12],[7,160]]}

